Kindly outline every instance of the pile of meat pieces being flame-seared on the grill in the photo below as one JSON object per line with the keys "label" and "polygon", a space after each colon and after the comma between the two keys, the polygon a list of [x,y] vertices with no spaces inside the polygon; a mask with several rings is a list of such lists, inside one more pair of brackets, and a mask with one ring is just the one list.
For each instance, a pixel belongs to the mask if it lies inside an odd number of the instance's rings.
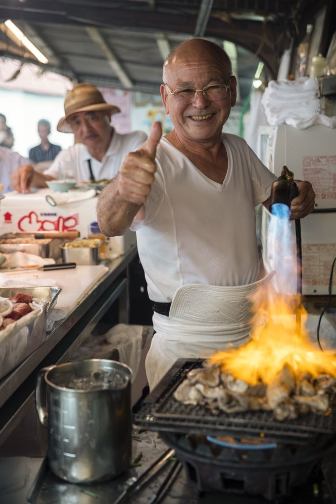
{"label": "pile of meat pieces being flame-seared on the grill", "polygon": [[174,398],[184,404],[203,405],[213,414],[220,411],[272,410],[275,420],[296,419],[302,414],[327,414],[336,393],[336,379],[321,374],[296,375],[289,364],[268,385],[249,385],[222,371],[220,364],[194,369],[174,391]]}

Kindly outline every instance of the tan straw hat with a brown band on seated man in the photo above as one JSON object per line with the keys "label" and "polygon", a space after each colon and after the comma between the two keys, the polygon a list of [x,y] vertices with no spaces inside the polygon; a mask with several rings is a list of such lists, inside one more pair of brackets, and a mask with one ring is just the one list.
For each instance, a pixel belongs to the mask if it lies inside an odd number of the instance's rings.
{"label": "tan straw hat with a brown band on seated man", "polygon": [[119,107],[116,107],[116,105],[106,103],[97,87],[82,82],[68,91],[64,101],[65,115],[59,120],[57,130],[63,133],[72,133],[67,118],[76,112],[89,112],[90,110],[109,110],[112,114],[120,112]]}

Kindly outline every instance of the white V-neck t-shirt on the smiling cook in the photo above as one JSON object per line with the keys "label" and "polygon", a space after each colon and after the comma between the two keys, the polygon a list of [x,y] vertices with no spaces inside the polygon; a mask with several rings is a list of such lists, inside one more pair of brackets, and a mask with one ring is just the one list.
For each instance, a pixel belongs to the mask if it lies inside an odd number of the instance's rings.
{"label": "white V-neck t-shirt on the smiling cook", "polygon": [[254,208],[276,179],[245,140],[223,134],[223,184],[161,139],[145,220],[133,221],[149,297],[170,302],[185,284],[236,286],[258,279]]}

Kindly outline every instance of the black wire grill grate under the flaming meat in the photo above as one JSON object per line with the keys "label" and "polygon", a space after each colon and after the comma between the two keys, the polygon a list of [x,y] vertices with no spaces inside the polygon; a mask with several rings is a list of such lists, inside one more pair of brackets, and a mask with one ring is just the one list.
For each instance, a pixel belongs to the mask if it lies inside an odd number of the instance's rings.
{"label": "black wire grill grate under the flaming meat", "polygon": [[200,368],[203,360],[179,359],[159,385],[143,402],[134,422],[148,430],[185,432],[206,435],[243,435],[278,440],[306,442],[314,435],[335,434],[336,414],[303,415],[297,420],[278,422],[271,411],[246,411],[218,416],[206,406],[182,404],[173,397],[174,390],[191,369]]}

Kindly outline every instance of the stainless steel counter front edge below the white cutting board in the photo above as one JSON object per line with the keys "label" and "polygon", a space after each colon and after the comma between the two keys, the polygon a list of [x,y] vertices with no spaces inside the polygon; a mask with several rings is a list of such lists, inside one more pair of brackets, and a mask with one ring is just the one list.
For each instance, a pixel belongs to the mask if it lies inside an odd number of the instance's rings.
{"label": "stainless steel counter front edge below the white cutting board", "polygon": [[69,360],[116,301],[118,322],[128,323],[128,266],[136,254],[136,246],[133,246],[114,259],[105,276],[64,319],[55,322],[45,342],[0,381],[0,453],[2,444],[28,411],[38,370]]}

